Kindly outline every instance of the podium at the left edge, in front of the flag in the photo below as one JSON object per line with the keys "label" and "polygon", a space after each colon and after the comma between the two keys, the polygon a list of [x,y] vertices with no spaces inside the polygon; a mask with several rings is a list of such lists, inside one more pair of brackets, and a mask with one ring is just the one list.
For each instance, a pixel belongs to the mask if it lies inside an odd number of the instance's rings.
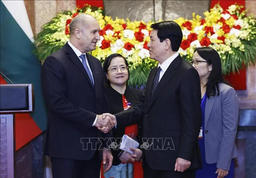
{"label": "podium at the left edge, in front of the flag", "polygon": [[15,178],[15,113],[33,111],[33,85],[0,85],[0,175]]}

